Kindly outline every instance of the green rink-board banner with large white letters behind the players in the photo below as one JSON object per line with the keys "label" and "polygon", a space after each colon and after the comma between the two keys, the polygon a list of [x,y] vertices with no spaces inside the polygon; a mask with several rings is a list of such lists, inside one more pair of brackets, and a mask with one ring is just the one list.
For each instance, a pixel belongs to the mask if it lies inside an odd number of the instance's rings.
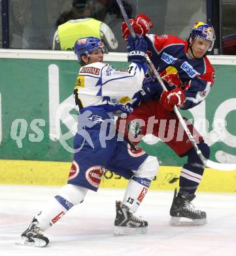
{"label": "green rink-board banner with large white letters behind the players", "polygon": [[[127,68],[127,62],[110,64]],[[0,67],[0,159],[71,161],[78,62],[0,58]],[[214,68],[217,78],[207,100],[182,115],[192,119],[211,146],[211,160],[236,163],[236,66]],[[184,163],[163,142],[147,142],[143,147],[161,165]]]}

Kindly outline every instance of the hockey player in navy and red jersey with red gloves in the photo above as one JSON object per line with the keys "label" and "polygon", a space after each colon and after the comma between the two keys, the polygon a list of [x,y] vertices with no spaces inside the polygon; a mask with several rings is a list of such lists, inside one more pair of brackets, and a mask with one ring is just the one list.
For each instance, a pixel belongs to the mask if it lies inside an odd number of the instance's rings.
{"label": "hockey player in navy and red jersey with red gloves", "polygon": [[[161,85],[153,78],[147,77],[143,82],[143,92],[137,93],[138,106],[126,119],[126,127],[118,120],[118,128],[125,131],[124,135],[133,144],[137,144],[143,135],[152,133],[159,137],[180,157],[187,156],[188,160],[180,172],[180,190],[175,190],[170,215],[172,225],[180,224],[205,224],[207,215],[204,211],[194,209],[192,200],[195,191],[201,182],[205,166],[197,156],[194,147],[177,115],[173,111],[176,105],[181,110],[194,108],[201,103],[211,90],[215,79],[214,69],[207,58],[213,48],[215,34],[212,26],[197,22],[194,24],[186,41],[175,35],[151,35],[148,34],[153,24],[150,18],[139,14],[130,20],[135,33],[146,35],[150,60],[158,70],[168,91],[163,91]],[[129,37],[129,29],[122,24],[123,37]],[[155,117],[152,125],[148,125],[148,118]],[[142,121],[141,121],[142,120]],[[166,120],[165,125],[161,120]],[[188,128],[194,135],[197,144],[205,156],[209,158],[210,148],[203,138],[194,129],[192,124]],[[173,133],[173,139],[166,139],[166,134]],[[187,218],[183,221],[182,217]]]}

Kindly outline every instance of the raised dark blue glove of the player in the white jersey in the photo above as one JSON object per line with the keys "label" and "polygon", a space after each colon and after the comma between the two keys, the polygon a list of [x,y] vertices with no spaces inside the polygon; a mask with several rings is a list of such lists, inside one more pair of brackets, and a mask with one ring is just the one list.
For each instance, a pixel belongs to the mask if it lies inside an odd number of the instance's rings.
{"label": "raised dark blue glove of the player in the white jersey", "polygon": [[128,62],[146,62],[148,44],[143,35],[136,35],[135,39],[129,35],[127,43]]}

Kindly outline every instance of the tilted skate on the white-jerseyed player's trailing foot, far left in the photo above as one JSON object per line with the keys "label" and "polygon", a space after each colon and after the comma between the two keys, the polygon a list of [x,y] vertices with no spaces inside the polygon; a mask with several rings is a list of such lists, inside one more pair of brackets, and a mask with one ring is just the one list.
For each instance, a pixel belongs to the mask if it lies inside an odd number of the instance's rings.
{"label": "tilted skate on the white-jerseyed player's trailing foot, far left", "polygon": [[36,247],[46,246],[49,243],[49,240],[46,236],[43,236],[42,230],[37,226],[37,224],[37,219],[33,218],[33,221],[29,224],[27,230],[22,233],[20,241],[16,242],[16,244]]}

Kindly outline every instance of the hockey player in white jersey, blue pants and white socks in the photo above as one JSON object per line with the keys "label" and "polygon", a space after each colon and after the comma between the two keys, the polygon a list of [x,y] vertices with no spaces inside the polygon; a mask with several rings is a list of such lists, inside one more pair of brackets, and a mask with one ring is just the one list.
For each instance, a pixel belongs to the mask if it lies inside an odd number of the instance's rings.
{"label": "hockey player in white jersey, blue pants and white socks", "polygon": [[148,223],[133,215],[158,171],[156,157],[133,150],[119,138],[114,113],[132,111],[133,95],[142,89],[146,73],[147,44],[143,36],[127,43],[127,71],[115,70],[103,62],[104,45],[96,37],[78,39],[75,53],[81,64],[75,83],[78,106],[78,132],[75,155],[68,182],[46,203],[22,233],[18,244],[44,247],[49,240],[42,234],[59,221],[71,207],[82,203],[88,190],[97,191],[106,169],[129,179],[124,199],[116,201],[114,234],[145,233]]}

